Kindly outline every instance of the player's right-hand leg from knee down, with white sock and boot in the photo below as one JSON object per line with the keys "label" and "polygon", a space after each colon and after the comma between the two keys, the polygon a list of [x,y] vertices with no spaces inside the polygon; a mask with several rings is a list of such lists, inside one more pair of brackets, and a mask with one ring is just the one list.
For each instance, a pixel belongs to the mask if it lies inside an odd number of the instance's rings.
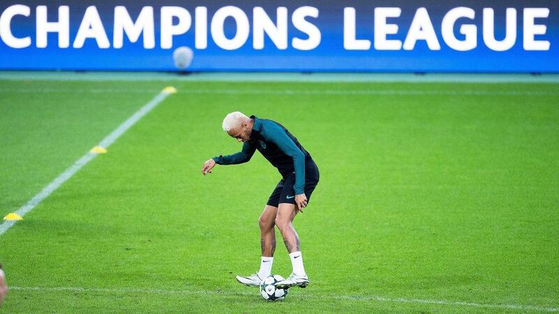
{"label": "player's right-hand leg from knee down, with white sock and boot", "polygon": [[280,203],[277,207],[275,224],[279,232],[282,232],[285,247],[287,248],[287,252],[289,252],[289,258],[293,266],[291,275],[284,281],[277,283],[277,287],[282,289],[293,287],[294,285],[306,287],[309,284],[309,278],[303,266],[303,255],[300,251],[299,235],[295,227],[293,227],[293,219],[296,215],[297,210],[295,204]]}

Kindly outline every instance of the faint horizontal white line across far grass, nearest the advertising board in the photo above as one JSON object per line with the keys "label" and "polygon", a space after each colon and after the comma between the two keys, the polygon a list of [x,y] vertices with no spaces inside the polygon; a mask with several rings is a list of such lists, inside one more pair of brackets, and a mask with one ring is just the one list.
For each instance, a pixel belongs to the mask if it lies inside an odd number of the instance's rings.
{"label": "faint horizontal white line across far grass, nearest the advertising board", "polygon": [[[152,89],[0,89],[0,93],[92,93],[92,94],[145,94]],[[226,95],[340,95],[340,96],[559,96],[559,91],[517,91],[483,89],[181,89],[181,94]]]}

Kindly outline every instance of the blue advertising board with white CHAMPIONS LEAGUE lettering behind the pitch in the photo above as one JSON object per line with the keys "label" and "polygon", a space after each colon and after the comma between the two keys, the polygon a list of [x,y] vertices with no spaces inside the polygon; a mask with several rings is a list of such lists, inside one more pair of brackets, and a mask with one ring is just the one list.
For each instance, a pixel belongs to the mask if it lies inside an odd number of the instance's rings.
{"label": "blue advertising board with white CHAMPIONS LEAGUE lettering behind the pitch", "polygon": [[0,69],[559,72],[559,1],[1,1]]}

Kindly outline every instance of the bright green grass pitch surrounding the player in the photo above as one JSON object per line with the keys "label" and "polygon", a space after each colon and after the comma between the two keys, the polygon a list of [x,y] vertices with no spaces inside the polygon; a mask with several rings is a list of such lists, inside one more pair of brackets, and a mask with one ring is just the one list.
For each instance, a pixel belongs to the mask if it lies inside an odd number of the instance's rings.
{"label": "bright green grass pitch surrounding the player", "polygon": [[[167,85],[0,235],[0,312],[559,311],[558,84],[0,81],[0,216]],[[240,149],[235,110],[284,124],[321,171],[295,220],[311,283],[278,303],[234,276],[259,267],[279,174],[259,153],[200,172]]]}

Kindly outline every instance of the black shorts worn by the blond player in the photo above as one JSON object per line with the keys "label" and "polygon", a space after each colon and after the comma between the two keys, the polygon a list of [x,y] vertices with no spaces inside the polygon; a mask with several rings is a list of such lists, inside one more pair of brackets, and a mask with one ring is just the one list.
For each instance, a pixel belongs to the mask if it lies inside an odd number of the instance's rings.
{"label": "black shorts worn by the blond player", "polygon": [[[307,197],[307,203],[310,201],[312,191],[319,183],[319,177],[319,168],[317,164],[312,160],[307,161],[305,164],[305,196]],[[295,204],[295,190],[293,190],[293,185],[295,185],[295,172],[279,180],[279,183],[275,186],[266,204],[273,207],[277,207],[279,203]]]}

